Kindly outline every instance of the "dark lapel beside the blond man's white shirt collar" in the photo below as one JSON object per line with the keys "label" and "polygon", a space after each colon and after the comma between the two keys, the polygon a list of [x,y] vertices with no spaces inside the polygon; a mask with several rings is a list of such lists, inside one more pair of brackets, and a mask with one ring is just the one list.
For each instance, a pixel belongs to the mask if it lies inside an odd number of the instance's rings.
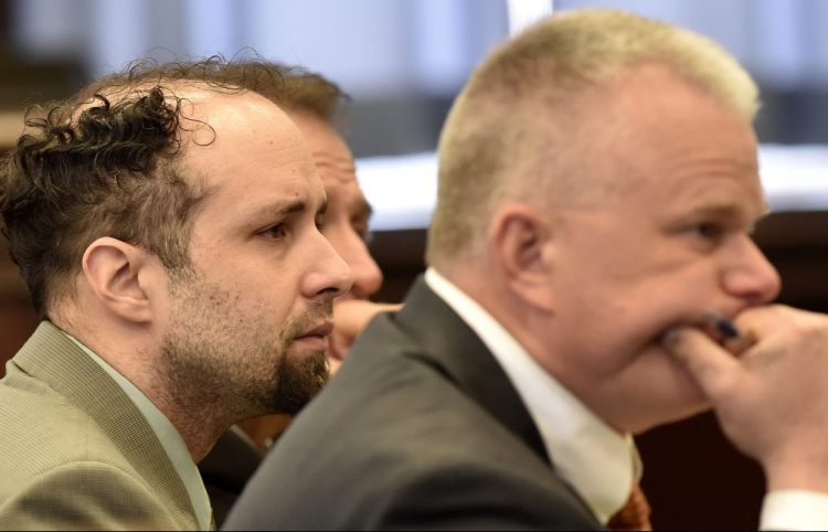
{"label": "dark lapel beside the blond man's white shirt collar", "polygon": [[417,355],[551,464],[538,428],[500,364],[477,334],[420,277],[396,318],[424,348]]}

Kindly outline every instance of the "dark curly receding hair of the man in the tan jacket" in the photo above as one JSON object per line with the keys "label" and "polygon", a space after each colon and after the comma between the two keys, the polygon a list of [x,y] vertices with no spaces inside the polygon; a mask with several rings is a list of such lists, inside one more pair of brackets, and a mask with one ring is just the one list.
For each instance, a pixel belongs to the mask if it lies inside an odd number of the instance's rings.
{"label": "dark curly receding hair of the man in the tan jacket", "polygon": [[242,92],[234,79],[248,67],[231,68],[220,56],[163,65],[142,60],[72,98],[26,111],[26,132],[0,167],[0,214],[9,253],[42,318],[72,295],[83,254],[98,237],[142,247],[168,270],[189,266],[190,226],[208,191],[177,163],[181,131],[204,125],[188,125],[176,89],[194,79],[216,92]]}

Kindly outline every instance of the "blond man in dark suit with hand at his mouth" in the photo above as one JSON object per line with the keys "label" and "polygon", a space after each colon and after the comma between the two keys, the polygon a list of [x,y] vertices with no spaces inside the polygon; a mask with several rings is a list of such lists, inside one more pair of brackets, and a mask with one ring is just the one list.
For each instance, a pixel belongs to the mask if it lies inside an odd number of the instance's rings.
{"label": "blond man in dark suit with hand at his mouth", "polygon": [[828,318],[767,306],[756,107],[721,47],[617,11],[496,50],[440,138],[425,278],[229,528],[644,529],[633,435],[711,406],[762,525],[828,525]]}

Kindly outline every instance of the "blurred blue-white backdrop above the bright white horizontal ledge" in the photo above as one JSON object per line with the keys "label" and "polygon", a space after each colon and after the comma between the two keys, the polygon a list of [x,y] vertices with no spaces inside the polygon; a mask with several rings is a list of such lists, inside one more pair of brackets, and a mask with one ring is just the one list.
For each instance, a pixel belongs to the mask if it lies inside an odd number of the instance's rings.
{"label": "blurred blue-white backdrop above the bright white horizontal ledge", "polygon": [[[358,157],[431,150],[474,65],[523,13],[552,3],[3,0],[0,105],[19,107],[77,87],[144,55],[230,57],[250,47],[319,71],[353,96],[347,132]],[[585,6],[618,7],[711,36],[762,85],[765,107],[757,128],[764,142],[828,142],[828,2],[554,2],[555,10]]]}

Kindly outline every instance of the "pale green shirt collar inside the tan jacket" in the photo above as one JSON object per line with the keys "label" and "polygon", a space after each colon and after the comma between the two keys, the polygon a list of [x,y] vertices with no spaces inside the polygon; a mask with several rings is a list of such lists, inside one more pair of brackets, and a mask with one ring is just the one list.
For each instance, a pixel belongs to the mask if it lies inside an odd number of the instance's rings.
{"label": "pale green shirt collar inside the tan jacket", "polygon": [[104,359],[96,354],[93,350],[84,345],[79,340],[74,338],[72,334],[64,332],[73,342],[75,342],[92,360],[94,360],[109,376],[124,390],[129,400],[135,406],[144,414],[147,418],[152,432],[156,433],[161,447],[170,458],[172,466],[176,468],[179,477],[184,483],[187,493],[190,496],[190,502],[195,510],[195,518],[199,520],[199,526],[201,530],[212,529],[212,515],[213,510],[210,506],[210,498],[208,497],[204,482],[201,479],[199,469],[190,455],[190,450],[187,448],[181,435],[176,430],[172,423],[163,415],[152,402],[147,398],[144,393],[136,387],[135,384],[129,382],[127,377],[118,373],[115,368],[109,365]]}

